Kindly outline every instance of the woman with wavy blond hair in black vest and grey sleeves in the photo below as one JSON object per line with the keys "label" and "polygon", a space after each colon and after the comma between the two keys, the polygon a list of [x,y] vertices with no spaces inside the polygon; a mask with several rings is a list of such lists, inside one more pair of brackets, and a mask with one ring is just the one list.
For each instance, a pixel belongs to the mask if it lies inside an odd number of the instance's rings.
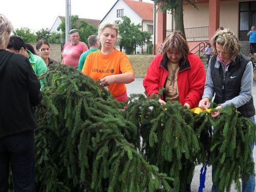
{"label": "woman with wavy blond hair in black vest and grey sleeves", "polygon": [[[208,109],[209,100],[214,96],[218,104],[217,110],[225,109],[228,104],[234,104],[241,116],[254,121],[255,109],[251,95],[253,83],[252,62],[240,53],[239,41],[233,32],[223,29],[217,31],[211,38],[212,58],[206,74],[203,99],[199,107]],[[211,114],[218,117],[220,111]],[[251,145],[253,150],[253,143]],[[248,182],[242,181],[243,191],[254,191],[255,178],[250,176]],[[212,185],[212,191],[216,186]]]}

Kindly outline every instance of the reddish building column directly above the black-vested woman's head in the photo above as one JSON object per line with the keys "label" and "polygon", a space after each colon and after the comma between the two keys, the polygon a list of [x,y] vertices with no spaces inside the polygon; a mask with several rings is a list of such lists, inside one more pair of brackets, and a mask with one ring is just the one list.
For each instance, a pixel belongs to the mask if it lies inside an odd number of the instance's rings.
{"label": "reddish building column directly above the black-vested woman's head", "polygon": [[220,0],[209,1],[209,40],[220,27]]}

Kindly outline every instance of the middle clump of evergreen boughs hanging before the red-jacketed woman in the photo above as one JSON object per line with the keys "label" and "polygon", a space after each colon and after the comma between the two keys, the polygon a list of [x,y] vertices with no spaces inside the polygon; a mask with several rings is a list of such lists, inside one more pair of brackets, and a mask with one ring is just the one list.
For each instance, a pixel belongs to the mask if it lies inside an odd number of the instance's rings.
{"label": "middle clump of evergreen boughs hanging before the red-jacketed woman", "polygon": [[142,144],[140,153],[160,172],[174,178],[176,191],[185,191],[195,169],[200,152],[199,136],[194,131],[194,114],[180,103],[160,105],[158,97],[147,99],[143,95],[131,96],[126,119],[135,123]]}

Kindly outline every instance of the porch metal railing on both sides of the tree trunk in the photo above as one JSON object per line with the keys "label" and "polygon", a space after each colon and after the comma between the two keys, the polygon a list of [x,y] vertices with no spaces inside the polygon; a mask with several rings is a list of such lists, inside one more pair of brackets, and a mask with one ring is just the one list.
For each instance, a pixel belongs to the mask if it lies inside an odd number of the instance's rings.
{"label": "porch metal railing on both sides of the tree trunk", "polygon": [[[186,38],[203,38],[208,37],[209,35],[209,27],[193,27],[193,28],[185,28],[185,35]],[[172,30],[166,30],[166,36],[168,36],[171,32],[175,31],[175,29]]]}

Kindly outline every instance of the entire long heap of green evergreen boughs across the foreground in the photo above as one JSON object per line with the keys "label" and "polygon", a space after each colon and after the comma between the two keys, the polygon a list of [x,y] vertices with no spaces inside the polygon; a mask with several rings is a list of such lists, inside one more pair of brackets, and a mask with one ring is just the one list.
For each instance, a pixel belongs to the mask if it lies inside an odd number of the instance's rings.
{"label": "entire long heap of green evergreen boughs across the foreground", "polygon": [[241,191],[239,179],[253,175],[256,126],[233,105],[211,118],[178,102],[160,105],[160,92],[132,95],[123,111],[126,103],[69,66],[51,65],[40,80],[36,191],[185,191],[201,163],[215,167],[218,191],[232,182]]}

